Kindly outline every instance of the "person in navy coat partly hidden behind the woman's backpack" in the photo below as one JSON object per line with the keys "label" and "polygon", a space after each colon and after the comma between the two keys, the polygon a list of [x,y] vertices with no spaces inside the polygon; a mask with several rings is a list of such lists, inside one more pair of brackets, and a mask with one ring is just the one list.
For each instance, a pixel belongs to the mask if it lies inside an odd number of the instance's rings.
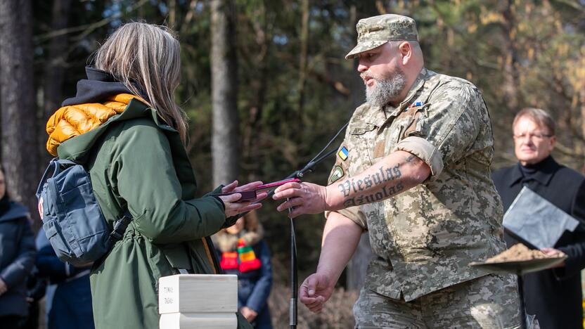
{"label": "person in navy coat partly hidden behind the woman's backpack", "polygon": [[37,234],[37,276],[49,281],[46,287],[47,329],[93,329],[89,271],[62,262],[41,228]]}

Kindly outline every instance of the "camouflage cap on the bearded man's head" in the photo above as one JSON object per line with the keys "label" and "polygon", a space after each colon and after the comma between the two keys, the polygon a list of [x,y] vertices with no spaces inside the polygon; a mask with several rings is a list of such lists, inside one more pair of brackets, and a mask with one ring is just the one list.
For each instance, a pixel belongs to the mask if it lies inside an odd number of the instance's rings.
{"label": "camouflage cap on the bearded man's head", "polygon": [[345,59],[352,59],[359,53],[382,46],[387,41],[418,41],[416,22],[412,18],[386,14],[359,20],[356,25],[357,46],[349,51]]}

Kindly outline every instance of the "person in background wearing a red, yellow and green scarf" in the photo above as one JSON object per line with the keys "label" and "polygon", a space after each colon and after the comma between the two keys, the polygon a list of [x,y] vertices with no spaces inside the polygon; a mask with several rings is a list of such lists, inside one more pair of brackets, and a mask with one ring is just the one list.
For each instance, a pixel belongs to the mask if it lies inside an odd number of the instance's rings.
{"label": "person in background wearing a red, yellow and green scarf", "polygon": [[270,250],[256,212],[213,236],[226,274],[238,276],[238,309],[257,329],[271,329],[268,296],[272,288]]}

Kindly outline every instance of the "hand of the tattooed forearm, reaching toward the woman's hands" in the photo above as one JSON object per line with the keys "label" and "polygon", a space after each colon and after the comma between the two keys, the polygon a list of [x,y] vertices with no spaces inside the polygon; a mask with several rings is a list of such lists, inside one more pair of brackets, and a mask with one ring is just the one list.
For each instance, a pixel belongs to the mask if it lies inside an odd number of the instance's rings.
{"label": "hand of the tattooed forearm, reaching toward the woman's hands", "polygon": [[288,208],[293,211],[288,217],[295,218],[300,214],[319,214],[327,207],[327,188],[313,183],[285,183],[274,191],[274,200],[286,200],[276,210],[283,212]]}

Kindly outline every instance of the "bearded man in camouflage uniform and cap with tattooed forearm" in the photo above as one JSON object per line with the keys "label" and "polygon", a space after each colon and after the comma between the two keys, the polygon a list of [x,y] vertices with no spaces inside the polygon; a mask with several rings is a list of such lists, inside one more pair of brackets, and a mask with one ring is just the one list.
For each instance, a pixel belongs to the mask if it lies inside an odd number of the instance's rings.
{"label": "bearded man in camouflage uniform and cap with tattooed forearm", "polygon": [[470,267],[503,251],[502,205],[490,179],[491,123],[464,79],[425,69],[413,19],[360,20],[366,103],[356,108],[328,186],[288,183],[290,217],[326,211],[316,273],[300,301],[320,311],[369,231],[375,258],[354,304],[356,328],[516,328],[512,276]]}

